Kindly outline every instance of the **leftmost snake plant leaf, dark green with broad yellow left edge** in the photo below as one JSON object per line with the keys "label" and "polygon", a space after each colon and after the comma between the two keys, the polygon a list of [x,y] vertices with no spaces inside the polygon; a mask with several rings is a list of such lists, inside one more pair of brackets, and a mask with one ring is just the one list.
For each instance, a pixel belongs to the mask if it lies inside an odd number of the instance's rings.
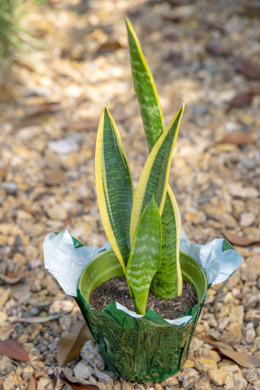
{"label": "leftmost snake plant leaf, dark green with broad yellow left edge", "polygon": [[101,219],[125,272],[130,254],[129,227],[134,187],[119,131],[106,106],[97,132],[95,171]]}

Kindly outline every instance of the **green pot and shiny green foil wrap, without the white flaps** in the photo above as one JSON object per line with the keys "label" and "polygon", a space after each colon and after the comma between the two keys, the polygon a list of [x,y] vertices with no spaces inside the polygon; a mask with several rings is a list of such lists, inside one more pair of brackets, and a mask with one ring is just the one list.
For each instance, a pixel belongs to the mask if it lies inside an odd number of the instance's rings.
{"label": "green pot and shiny green foil wrap, without the white flaps", "polygon": [[124,272],[113,250],[101,253],[84,269],[75,299],[99,344],[104,362],[121,378],[163,381],[185,362],[207,292],[207,279],[198,262],[183,252],[180,265],[183,279],[194,285],[198,297],[198,304],[179,317],[191,316],[185,325],[170,324],[152,310],[135,318],[119,310],[115,301],[102,312],[94,310],[88,304],[91,292]]}

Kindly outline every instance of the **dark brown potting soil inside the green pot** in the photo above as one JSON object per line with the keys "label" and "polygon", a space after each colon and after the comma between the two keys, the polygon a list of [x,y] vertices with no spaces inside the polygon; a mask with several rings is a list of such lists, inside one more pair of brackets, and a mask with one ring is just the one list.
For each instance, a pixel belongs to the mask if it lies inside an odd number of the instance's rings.
{"label": "dark brown potting soil inside the green pot", "polygon": [[[129,298],[125,277],[112,278],[102,283],[90,295],[90,305],[96,310],[104,310],[111,301],[117,301],[129,310],[135,311],[134,301]],[[198,303],[198,298],[195,288],[184,280],[182,295],[177,298],[163,300],[149,292],[146,310],[152,309],[163,318],[175,319],[190,307],[194,307],[196,303]]]}

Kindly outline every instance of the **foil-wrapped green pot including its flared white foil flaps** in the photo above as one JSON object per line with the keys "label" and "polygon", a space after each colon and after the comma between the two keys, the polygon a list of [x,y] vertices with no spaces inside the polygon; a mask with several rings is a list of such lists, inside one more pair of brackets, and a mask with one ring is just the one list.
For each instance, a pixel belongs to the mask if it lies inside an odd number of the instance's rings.
{"label": "foil-wrapped green pot including its flared white foil flaps", "polygon": [[137,382],[163,381],[182,367],[207,287],[226,280],[242,262],[241,255],[225,239],[198,245],[189,243],[182,231],[182,277],[194,285],[198,304],[179,318],[168,320],[153,310],[138,315],[116,301],[102,312],[88,304],[97,286],[124,275],[109,243],[102,248],[85,247],[63,231],[48,234],[43,248],[46,268],[64,291],[74,296],[108,368],[121,378]]}

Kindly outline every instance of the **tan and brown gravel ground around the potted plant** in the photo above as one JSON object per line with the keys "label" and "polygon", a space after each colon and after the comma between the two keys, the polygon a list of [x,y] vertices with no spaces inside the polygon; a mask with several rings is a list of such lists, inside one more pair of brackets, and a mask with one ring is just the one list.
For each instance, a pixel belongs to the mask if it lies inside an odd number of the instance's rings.
{"label": "tan and brown gravel ground around the potted plant", "polygon": [[[236,0],[52,0],[25,16],[41,31],[45,46],[16,53],[9,72],[0,76],[0,274],[21,279],[0,282],[0,339],[16,339],[27,350],[39,390],[62,387],[59,340],[82,318],[44,269],[44,237],[67,229],[85,245],[106,241],[94,180],[105,101],[135,187],[148,156],[131,83],[126,14],[154,74],[166,125],[186,103],[170,184],[188,238],[205,244],[229,230],[260,240],[259,94],[229,109],[233,97],[259,92],[259,80],[235,67],[240,55],[259,64],[259,8],[253,18],[249,5]],[[216,46],[206,50],[208,45],[219,45],[221,53],[216,55]],[[243,134],[241,145],[238,138],[235,144],[219,143],[237,131]],[[98,382],[101,390],[260,388],[260,369],[221,361],[201,340],[209,334],[260,356],[260,248],[235,248],[243,264],[227,282],[210,288],[184,368],[161,384],[112,375],[108,383]],[[62,310],[68,314],[46,323],[15,322]],[[67,372],[74,369],[75,376],[96,384],[95,376],[80,371],[79,365],[87,367],[83,362],[68,363]],[[24,390],[34,371],[29,363],[17,365],[0,355],[5,390]]]}

